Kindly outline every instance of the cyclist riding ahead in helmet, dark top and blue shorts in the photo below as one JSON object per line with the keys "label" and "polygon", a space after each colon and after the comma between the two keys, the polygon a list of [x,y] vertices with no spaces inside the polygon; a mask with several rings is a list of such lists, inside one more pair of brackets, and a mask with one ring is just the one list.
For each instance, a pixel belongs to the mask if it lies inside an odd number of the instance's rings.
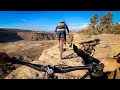
{"label": "cyclist riding ahead in helmet, dark top and blue shorts", "polygon": [[58,47],[60,47],[60,36],[63,38],[62,46],[65,43],[65,47],[66,47],[66,30],[69,33],[69,28],[67,24],[65,23],[64,20],[61,20],[55,29],[55,33],[58,39],[58,45],[59,45]]}

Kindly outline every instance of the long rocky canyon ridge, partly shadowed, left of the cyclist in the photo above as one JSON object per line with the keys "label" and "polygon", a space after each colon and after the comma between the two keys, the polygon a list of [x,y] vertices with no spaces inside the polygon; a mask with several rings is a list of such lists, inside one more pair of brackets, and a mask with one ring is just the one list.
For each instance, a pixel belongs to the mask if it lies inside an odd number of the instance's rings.
{"label": "long rocky canyon ridge, partly shadowed, left of the cyclist", "polygon": [[13,28],[0,28],[0,43],[14,42],[18,40],[55,40],[55,36],[54,33],[51,31],[33,31]]}

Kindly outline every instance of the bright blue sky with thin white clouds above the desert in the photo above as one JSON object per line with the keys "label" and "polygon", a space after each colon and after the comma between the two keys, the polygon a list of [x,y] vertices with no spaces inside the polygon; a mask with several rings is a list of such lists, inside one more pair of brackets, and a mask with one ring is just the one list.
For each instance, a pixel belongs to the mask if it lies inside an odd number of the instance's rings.
{"label": "bright blue sky with thin white clouds above the desert", "polygon": [[100,18],[107,12],[114,23],[120,22],[120,11],[0,11],[0,27],[47,31],[64,19],[70,30],[76,30],[87,27],[94,14]]}

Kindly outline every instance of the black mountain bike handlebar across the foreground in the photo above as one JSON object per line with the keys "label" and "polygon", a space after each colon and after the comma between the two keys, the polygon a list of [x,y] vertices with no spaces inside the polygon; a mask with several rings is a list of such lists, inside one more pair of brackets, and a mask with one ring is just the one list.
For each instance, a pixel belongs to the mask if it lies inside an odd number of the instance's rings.
{"label": "black mountain bike handlebar across the foreground", "polygon": [[12,58],[11,62],[13,64],[22,64],[26,65],[29,67],[32,67],[33,69],[36,69],[38,71],[46,72],[48,75],[53,75],[55,73],[67,73],[75,70],[90,70],[92,71],[91,75],[95,77],[100,77],[103,75],[103,68],[104,64],[89,64],[85,66],[65,66],[65,65],[55,65],[55,66],[50,66],[50,65],[39,65],[39,64],[32,64],[28,62],[24,62],[21,60],[18,60],[16,58]]}

